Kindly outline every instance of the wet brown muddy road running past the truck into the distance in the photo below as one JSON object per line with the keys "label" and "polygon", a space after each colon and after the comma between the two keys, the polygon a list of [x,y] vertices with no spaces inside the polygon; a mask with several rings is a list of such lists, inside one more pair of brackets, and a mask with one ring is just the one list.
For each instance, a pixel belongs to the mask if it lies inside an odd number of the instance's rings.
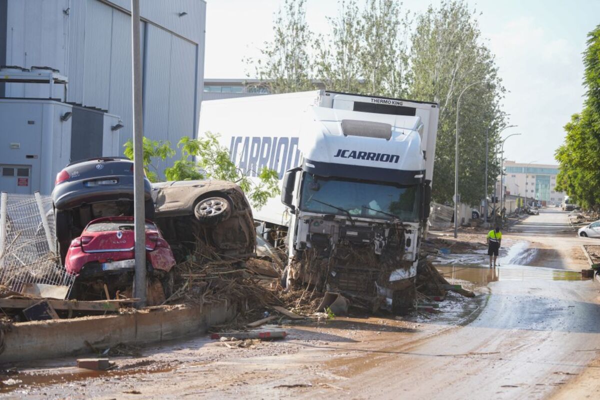
{"label": "wet brown muddy road running past the truck into the distance", "polygon": [[0,396],[600,398],[600,285],[575,272],[592,240],[567,213],[542,210],[505,233],[496,270],[483,254],[439,267],[477,293],[449,296],[440,314],[287,325],[286,341],[248,348],[194,338],[113,358],[108,372],[82,374],[73,359],[17,365],[21,382]]}

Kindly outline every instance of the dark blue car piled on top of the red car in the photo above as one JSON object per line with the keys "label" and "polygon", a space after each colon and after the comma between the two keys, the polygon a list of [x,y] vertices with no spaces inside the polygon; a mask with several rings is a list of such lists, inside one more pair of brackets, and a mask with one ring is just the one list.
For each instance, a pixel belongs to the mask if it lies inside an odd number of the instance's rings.
{"label": "dark blue car piled on top of the red car", "polygon": [[[144,179],[146,218],[152,220],[152,187]],[[62,261],[74,237],[94,219],[133,216],[133,161],[123,157],[92,158],[68,164],[56,175],[52,203]]]}

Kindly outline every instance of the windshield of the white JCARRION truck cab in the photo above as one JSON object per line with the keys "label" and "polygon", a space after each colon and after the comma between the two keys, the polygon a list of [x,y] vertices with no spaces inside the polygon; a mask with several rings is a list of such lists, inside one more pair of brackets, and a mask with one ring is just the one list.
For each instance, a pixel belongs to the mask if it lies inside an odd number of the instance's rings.
{"label": "windshield of the white JCARRION truck cab", "polygon": [[[416,185],[394,185],[304,175],[300,209],[359,218],[419,220]],[[344,212],[344,210],[346,212]]]}

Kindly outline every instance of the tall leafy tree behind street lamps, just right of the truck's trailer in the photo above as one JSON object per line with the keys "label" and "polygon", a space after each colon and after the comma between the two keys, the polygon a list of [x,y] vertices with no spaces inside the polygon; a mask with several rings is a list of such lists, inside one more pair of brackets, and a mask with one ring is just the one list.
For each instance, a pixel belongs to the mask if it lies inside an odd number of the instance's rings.
{"label": "tall leafy tree behind street lamps, just right of the truck's trailer", "polygon": [[497,132],[505,126],[500,116],[504,88],[497,76],[494,56],[482,44],[475,11],[462,1],[443,1],[416,19],[410,50],[410,98],[439,104],[433,197],[452,201],[454,194],[456,111],[460,92],[458,182],[461,201],[479,204],[485,185],[485,128],[491,124],[488,157],[489,188],[499,174],[494,157]]}

